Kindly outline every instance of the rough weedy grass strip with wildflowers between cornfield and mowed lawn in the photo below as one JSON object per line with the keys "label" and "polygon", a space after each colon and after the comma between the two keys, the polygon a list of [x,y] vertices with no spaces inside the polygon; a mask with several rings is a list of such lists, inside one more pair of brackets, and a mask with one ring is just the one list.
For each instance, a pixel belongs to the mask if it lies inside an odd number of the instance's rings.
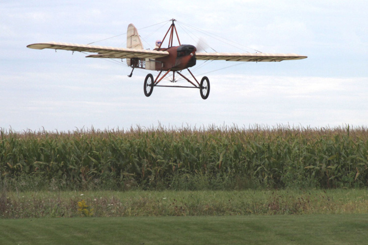
{"label": "rough weedy grass strip with wildflowers between cornfield and mowed lawn", "polygon": [[[85,209],[79,203],[84,200]],[[88,212],[87,212],[88,211]],[[86,191],[0,194],[0,218],[368,214],[368,191]]]}

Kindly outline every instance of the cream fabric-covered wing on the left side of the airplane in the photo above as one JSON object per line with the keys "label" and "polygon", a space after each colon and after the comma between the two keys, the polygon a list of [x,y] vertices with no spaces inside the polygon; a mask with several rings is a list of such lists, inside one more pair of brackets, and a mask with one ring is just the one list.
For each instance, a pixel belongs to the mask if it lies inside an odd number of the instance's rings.
{"label": "cream fabric-covered wing on the left side of the airplane", "polygon": [[79,52],[97,53],[88,55],[90,58],[160,58],[169,55],[167,51],[156,51],[146,49],[127,49],[127,48],[112,48],[103,46],[91,46],[83,44],[68,44],[68,43],[40,43],[30,44],[27,46],[30,49],[62,49]]}

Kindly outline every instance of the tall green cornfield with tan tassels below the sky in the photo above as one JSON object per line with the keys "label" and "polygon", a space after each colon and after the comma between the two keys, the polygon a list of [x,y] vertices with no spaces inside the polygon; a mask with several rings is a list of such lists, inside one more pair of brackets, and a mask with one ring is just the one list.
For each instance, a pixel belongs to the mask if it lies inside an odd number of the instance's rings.
{"label": "tall green cornfield with tan tassels below the sky", "polygon": [[0,128],[0,187],[248,189],[368,187],[368,131],[351,128]]}

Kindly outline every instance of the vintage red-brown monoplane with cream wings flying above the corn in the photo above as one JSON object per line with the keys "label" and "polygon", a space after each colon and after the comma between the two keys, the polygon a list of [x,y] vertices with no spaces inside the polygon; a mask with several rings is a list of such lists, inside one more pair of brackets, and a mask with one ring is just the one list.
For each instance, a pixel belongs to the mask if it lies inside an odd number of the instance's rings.
{"label": "vintage red-brown monoplane with cream wings flying above the corn", "polygon": [[[118,58],[127,59],[127,64],[132,68],[131,77],[134,68],[158,71],[158,75],[154,79],[151,73],[147,74],[144,80],[144,94],[149,97],[154,87],[180,87],[180,88],[197,88],[200,90],[203,99],[208,98],[210,94],[210,80],[207,76],[202,77],[201,82],[195,78],[193,73],[189,71],[189,67],[193,67],[197,60],[226,60],[226,61],[253,61],[253,62],[277,62],[283,60],[305,59],[307,56],[298,54],[283,53],[219,53],[219,52],[196,52],[197,48],[193,45],[181,44],[179,35],[172,19],[172,24],[167,30],[162,41],[156,42],[156,48],[153,50],[143,49],[142,41],[138,35],[138,31],[133,24],[128,25],[127,31],[127,48],[112,48],[92,45],[69,44],[69,43],[37,43],[30,44],[30,49],[62,49],[80,52],[91,52],[88,58]],[[162,48],[161,45],[169,34],[168,47]],[[177,37],[179,46],[173,46],[174,37]],[[190,80],[182,74],[182,70],[187,69],[193,80]],[[162,72],[165,72],[161,75]],[[175,73],[178,73],[192,86],[167,86],[158,85],[158,83],[172,72],[172,80],[175,81]]]}

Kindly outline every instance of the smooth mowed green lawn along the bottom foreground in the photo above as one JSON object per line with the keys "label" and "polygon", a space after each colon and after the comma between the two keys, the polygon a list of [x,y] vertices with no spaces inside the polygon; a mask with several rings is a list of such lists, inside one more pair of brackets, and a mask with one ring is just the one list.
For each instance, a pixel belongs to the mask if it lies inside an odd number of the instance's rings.
{"label": "smooth mowed green lawn along the bottom foreground", "polygon": [[1,245],[367,244],[367,215],[0,220]]}

